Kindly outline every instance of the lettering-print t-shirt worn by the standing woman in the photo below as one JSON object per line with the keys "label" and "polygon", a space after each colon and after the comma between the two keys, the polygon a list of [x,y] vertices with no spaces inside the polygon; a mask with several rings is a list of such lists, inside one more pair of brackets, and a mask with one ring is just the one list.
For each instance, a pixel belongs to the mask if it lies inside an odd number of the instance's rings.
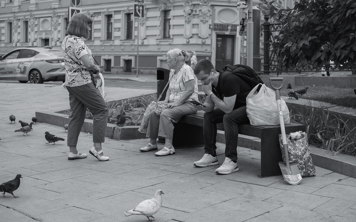
{"label": "lettering-print t-shirt worn by the standing woman", "polygon": [[64,82],[64,85],[74,87],[90,83],[90,72],[79,58],[88,54],[89,59],[93,61],[93,56],[83,39],[77,36],[66,36],[62,42],[62,52],[66,66],[66,82]]}

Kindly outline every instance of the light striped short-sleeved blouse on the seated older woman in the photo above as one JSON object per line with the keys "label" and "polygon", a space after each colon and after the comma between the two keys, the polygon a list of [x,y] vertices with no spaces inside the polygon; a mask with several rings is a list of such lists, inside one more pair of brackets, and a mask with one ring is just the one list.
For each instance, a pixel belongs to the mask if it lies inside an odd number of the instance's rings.
{"label": "light striped short-sleeved blouse on the seated older woman", "polygon": [[[173,77],[172,77],[173,76]],[[171,69],[169,73],[169,90],[171,91],[171,96],[169,96],[169,101],[176,102],[185,91],[187,91],[187,87],[185,87],[185,82],[189,80],[194,80],[194,92],[193,94],[187,99],[188,100],[197,100],[198,99],[198,80],[197,77],[194,75],[192,68],[184,64],[182,68],[176,73],[176,70]]]}

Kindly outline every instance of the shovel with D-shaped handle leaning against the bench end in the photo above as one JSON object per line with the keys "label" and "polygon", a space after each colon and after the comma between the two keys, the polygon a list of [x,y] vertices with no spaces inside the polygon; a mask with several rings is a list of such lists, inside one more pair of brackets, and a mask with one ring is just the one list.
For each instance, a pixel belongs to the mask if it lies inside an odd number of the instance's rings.
{"label": "shovel with D-shaped handle leaning against the bench end", "polygon": [[[282,81],[282,84],[279,87],[274,87],[272,85],[273,81]],[[269,83],[271,83],[271,87],[273,88],[273,90],[276,91],[279,123],[281,125],[284,156],[286,157],[286,162],[279,162],[279,167],[281,168],[284,180],[289,184],[297,185],[302,181],[302,175],[300,175],[297,162],[289,163],[286,130],[284,129],[284,120],[281,104],[281,95],[279,94],[279,90],[283,87],[283,78],[269,78]]]}

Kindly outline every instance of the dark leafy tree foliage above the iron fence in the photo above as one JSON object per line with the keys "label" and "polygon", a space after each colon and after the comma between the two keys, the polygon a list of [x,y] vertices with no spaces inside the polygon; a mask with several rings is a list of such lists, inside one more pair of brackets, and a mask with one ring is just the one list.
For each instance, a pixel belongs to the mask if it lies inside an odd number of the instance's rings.
{"label": "dark leafy tree foliage above the iron fence", "polygon": [[263,0],[263,5],[282,23],[283,31],[271,41],[280,72],[330,60],[356,67],[356,0],[297,0],[293,9],[273,2]]}

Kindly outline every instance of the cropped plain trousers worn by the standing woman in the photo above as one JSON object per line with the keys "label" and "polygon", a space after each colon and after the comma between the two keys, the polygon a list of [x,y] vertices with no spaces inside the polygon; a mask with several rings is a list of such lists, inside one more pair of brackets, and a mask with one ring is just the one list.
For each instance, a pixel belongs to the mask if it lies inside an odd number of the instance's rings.
{"label": "cropped plain trousers worn by the standing woman", "polygon": [[108,105],[94,83],[68,87],[70,115],[68,118],[67,145],[76,146],[80,130],[84,124],[87,108],[93,114],[93,142],[105,142],[106,124],[108,123]]}

